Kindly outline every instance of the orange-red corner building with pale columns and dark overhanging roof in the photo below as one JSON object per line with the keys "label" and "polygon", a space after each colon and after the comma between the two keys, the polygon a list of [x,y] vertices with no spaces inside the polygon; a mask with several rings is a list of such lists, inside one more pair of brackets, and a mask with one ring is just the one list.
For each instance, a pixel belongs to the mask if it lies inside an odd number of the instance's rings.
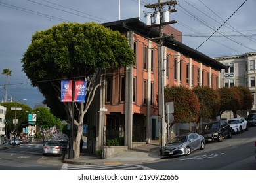
{"label": "orange-red corner building with pale columns and dark overhanging roof", "polygon": [[[102,24],[119,31],[135,52],[135,65],[106,73],[87,112],[88,135],[95,148],[108,139],[125,138],[125,146],[160,138],[158,118],[158,29],[146,27],[139,18]],[[182,44],[182,33],[165,26],[163,65],[165,86],[209,86],[219,88],[219,75],[225,66],[213,58]],[[173,35],[173,37],[171,36]],[[179,35],[179,36],[177,36]],[[100,108],[106,108],[102,111]],[[97,114],[95,114],[98,111]],[[95,115],[93,115],[95,114]]]}

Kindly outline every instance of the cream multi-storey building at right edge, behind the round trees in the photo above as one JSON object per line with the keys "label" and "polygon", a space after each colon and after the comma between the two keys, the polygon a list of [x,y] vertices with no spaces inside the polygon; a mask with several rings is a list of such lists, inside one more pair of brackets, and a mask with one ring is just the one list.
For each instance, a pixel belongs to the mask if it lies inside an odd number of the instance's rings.
{"label": "cream multi-storey building at right edge, behind the round trees", "polygon": [[[226,69],[222,69],[220,75],[220,86],[245,86],[251,90],[253,95],[253,108],[251,111],[256,111],[255,105],[255,83],[256,83],[256,52],[245,53],[235,56],[224,56],[214,58],[220,63],[228,66]],[[240,113],[240,116],[246,116],[247,112]],[[224,112],[221,118],[233,118],[232,112]]]}

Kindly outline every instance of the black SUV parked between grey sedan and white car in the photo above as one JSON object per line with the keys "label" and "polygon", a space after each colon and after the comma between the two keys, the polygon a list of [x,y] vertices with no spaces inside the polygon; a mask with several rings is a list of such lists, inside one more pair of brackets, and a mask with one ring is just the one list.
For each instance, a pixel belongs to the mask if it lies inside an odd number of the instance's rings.
{"label": "black SUV parked between grey sedan and white car", "polygon": [[232,129],[226,120],[219,120],[207,124],[201,135],[206,142],[222,142],[224,137],[232,137]]}

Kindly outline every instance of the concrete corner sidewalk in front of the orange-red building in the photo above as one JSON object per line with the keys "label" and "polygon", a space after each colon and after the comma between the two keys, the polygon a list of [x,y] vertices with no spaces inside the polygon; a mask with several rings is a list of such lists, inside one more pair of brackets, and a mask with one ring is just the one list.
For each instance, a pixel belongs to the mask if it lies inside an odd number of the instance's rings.
{"label": "concrete corner sidewalk in front of the orange-red building", "polygon": [[163,156],[158,156],[158,150],[158,144],[144,144],[106,159],[101,159],[100,157],[87,152],[81,152],[79,159],[68,159],[67,153],[63,163],[76,165],[124,165],[148,163],[163,158]]}

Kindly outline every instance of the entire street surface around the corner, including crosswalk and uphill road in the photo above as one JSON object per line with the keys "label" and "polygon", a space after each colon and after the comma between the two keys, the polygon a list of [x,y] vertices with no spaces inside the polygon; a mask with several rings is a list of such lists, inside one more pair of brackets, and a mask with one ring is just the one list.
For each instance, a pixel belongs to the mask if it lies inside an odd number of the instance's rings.
{"label": "entire street surface around the corner, including crosswalk and uphill road", "polygon": [[[255,170],[254,141],[256,127],[234,134],[223,142],[207,143],[205,150],[189,156],[164,158],[159,161],[123,165],[72,165],[62,163],[62,157],[42,156],[42,144],[25,144],[0,150],[2,170]],[[145,154],[146,156],[146,154]]]}

